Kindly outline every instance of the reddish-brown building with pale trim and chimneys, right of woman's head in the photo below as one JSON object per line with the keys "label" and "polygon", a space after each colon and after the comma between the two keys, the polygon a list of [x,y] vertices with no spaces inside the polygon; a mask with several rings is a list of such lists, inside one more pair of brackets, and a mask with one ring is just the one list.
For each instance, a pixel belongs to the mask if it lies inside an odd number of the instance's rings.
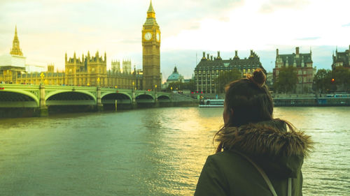
{"label": "reddish-brown building with pale trim and chimneys, right of woman's head", "polygon": [[275,68],[273,70],[274,82],[279,78],[281,68],[293,66],[297,72],[297,84],[295,93],[311,93],[316,68],[313,67],[312,52],[300,53],[299,47],[295,47],[293,54],[279,54],[276,49]]}

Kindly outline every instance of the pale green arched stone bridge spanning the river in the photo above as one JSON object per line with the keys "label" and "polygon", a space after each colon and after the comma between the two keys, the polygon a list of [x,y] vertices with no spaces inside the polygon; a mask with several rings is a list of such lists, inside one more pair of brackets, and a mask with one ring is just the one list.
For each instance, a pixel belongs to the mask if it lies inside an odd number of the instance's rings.
{"label": "pale green arched stone bridge spanning the river", "polygon": [[[104,105],[174,105],[188,102],[190,98],[179,98],[178,94],[162,91],[113,89],[96,86],[55,86],[30,84],[0,84],[0,108],[34,108],[38,116],[47,116],[51,106],[88,105],[95,111],[102,111]],[[118,105],[118,106],[117,106]]]}

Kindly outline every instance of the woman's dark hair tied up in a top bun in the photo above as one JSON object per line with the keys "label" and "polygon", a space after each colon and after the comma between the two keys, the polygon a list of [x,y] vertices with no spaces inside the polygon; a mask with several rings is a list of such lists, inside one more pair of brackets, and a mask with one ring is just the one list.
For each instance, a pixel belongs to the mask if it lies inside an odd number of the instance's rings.
{"label": "woman's dark hair tied up in a top bun", "polygon": [[253,75],[225,87],[225,107],[230,116],[225,127],[272,120],[274,106],[265,81],[265,73],[258,68]]}

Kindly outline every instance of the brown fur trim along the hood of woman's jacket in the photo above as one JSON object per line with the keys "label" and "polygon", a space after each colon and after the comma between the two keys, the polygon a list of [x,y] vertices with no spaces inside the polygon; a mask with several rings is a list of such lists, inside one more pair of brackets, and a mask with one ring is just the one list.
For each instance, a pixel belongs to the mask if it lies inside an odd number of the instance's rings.
{"label": "brown fur trim along the hood of woman's jacket", "polygon": [[235,149],[251,156],[308,156],[313,142],[309,135],[274,119],[240,127],[223,128],[216,137],[224,149]]}

